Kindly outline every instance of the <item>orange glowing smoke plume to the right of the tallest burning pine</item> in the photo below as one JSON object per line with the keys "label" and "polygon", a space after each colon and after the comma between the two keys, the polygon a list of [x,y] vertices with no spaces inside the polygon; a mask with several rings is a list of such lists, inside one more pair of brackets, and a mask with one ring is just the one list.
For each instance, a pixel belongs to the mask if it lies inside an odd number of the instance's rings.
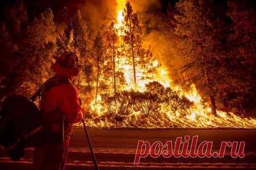
{"label": "orange glowing smoke plume to the right of the tallest burning pine", "polygon": [[169,71],[169,76],[178,83],[179,67],[182,61],[177,57],[175,48],[174,24],[170,17],[175,4],[162,4],[159,0],[131,1],[132,8],[138,14],[144,32],[144,48],[151,47],[153,56]]}

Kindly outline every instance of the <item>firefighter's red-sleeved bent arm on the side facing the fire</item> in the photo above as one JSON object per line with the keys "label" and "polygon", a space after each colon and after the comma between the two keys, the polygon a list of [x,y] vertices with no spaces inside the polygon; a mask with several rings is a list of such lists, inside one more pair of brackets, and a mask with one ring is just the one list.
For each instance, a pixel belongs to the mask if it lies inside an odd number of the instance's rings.
{"label": "firefighter's red-sleeved bent arm on the side facing the fire", "polygon": [[61,95],[61,110],[65,113],[65,118],[68,123],[80,122],[84,113],[79,104],[76,87],[71,84],[65,85],[65,91],[63,91]]}

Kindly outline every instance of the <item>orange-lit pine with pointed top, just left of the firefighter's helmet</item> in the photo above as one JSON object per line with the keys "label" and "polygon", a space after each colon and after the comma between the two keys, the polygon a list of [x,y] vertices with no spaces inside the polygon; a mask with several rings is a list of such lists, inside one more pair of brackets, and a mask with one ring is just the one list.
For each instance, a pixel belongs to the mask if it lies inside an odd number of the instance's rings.
{"label": "orange-lit pine with pointed top, just left of the firefighter's helmet", "polygon": [[46,9],[40,17],[34,18],[27,29],[27,37],[20,48],[22,56],[28,58],[29,66],[32,70],[31,76],[35,79],[28,81],[35,82],[35,91],[41,86],[50,75],[45,69],[50,69],[52,60],[51,51],[54,48],[55,23],[53,22],[53,12]]}

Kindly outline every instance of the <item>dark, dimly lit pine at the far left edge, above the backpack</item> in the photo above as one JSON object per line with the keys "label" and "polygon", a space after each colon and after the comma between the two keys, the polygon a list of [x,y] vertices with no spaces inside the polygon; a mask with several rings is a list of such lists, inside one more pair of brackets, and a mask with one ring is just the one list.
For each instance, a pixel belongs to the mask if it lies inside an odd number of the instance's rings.
{"label": "dark, dimly lit pine at the far left edge, above the backpack", "polygon": [[[1,63],[4,75],[1,75],[0,98],[14,93],[22,85],[28,67],[21,63],[26,61],[18,54],[19,46],[26,37],[27,10],[23,1],[18,1],[4,10],[4,22],[1,23]],[[3,51],[2,51],[3,50]]]}

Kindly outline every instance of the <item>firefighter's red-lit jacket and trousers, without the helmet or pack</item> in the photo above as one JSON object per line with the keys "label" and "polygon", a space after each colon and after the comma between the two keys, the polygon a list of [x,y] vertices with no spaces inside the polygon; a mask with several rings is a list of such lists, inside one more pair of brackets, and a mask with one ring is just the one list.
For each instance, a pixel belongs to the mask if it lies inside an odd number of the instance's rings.
{"label": "firefighter's red-lit jacket and trousers, without the helmet or pack", "polygon": [[[55,77],[56,81],[58,76]],[[56,114],[54,111],[57,109]],[[67,159],[68,145],[72,134],[72,124],[81,121],[83,109],[79,104],[78,92],[72,83],[64,83],[49,89],[41,99],[41,111],[45,117],[59,121],[65,116],[65,133],[63,142],[45,143],[35,147],[33,167],[35,170],[63,170]],[[51,116],[56,114],[59,116]],[[54,121],[53,121],[54,122]],[[51,139],[50,139],[51,141]]]}

